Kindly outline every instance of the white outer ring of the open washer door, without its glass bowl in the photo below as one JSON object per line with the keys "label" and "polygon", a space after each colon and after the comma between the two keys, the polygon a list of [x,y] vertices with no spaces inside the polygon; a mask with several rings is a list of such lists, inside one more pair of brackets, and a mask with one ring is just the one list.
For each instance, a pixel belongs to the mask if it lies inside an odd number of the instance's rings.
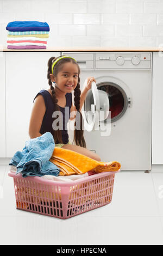
{"label": "white outer ring of the open washer door, without its glass bowl", "polygon": [[84,128],[87,131],[96,129],[99,125],[99,95],[95,82],[91,84],[91,90],[86,94],[84,102],[84,111],[82,112],[84,119]]}

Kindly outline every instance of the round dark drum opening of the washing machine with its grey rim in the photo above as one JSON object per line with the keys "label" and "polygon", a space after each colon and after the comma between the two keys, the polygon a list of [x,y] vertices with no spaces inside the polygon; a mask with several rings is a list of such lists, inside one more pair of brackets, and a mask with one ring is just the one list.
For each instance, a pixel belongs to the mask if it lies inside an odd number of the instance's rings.
{"label": "round dark drum opening of the washing machine with its grey rim", "polygon": [[117,121],[126,112],[128,107],[128,97],[122,87],[112,82],[102,82],[97,84],[98,90],[102,90],[108,95],[111,117],[105,119],[106,123]]}

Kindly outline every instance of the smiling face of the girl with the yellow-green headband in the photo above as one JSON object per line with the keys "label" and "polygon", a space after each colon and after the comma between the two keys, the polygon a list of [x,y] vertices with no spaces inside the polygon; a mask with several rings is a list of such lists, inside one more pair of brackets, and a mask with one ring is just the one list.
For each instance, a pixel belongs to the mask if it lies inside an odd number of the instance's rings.
{"label": "smiling face of the girl with the yellow-green headband", "polygon": [[55,86],[64,93],[71,93],[78,83],[78,66],[72,62],[65,63],[62,70],[54,77]]}

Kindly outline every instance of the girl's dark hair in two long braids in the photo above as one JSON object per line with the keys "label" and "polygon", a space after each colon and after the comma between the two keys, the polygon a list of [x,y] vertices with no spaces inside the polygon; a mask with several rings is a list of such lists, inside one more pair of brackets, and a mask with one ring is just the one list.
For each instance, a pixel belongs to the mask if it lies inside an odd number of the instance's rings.
{"label": "girl's dark hair in two long braids", "polygon": [[[59,56],[60,57],[60,56]],[[55,89],[54,87],[52,86],[52,81],[51,81],[51,77],[50,77],[50,74],[52,74],[52,64],[55,60],[57,60],[59,57],[51,57],[49,60],[48,60],[48,72],[47,72],[47,78],[48,78],[48,84],[49,86],[51,87],[51,91],[52,91],[52,100],[53,100],[53,103],[54,103],[54,111],[59,111],[59,106],[57,105],[57,97],[55,95]],[[73,64],[76,64],[78,66],[78,75],[80,74],[80,68],[79,68],[79,65],[78,63],[71,59],[71,58],[63,58],[63,59],[60,59],[54,66],[54,69],[53,69],[53,75],[54,77],[57,77],[58,75],[58,72],[60,72],[62,70],[62,67],[64,66],[65,63],[67,62],[72,62]],[[80,112],[80,94],[81,94],[81,91],[80,91],[80,78],[78,76],[78,84],[77,84],[77,87],[74,89],[74,105],[77,109],[77,111],[79,112],[79,115],[78,113],[76,114],[76,120],[75,120],[75,123],[74,123],[74,126],[76,127],[76,123],[78,123],[78,121],[80,121],[80,130],[77,130],[75,129],[74,130],[74,141],[76,143],[76,145],[79,145],[80,147],[83,147],[83,148],[86,148],[86,143],[85,143],[85,139],[84,139],[84,136],[83,136],[83,117],[82,117],[82,113]],[[80,120],[77,120],[77,118],[80,118]],[[54,118],[54,120],[57,119],[57,118]],[[61,136],[61,130],[57,130],[57,131],[54,131],[54,141],[55,143],[63,143],[62,142],[62,136]]]}

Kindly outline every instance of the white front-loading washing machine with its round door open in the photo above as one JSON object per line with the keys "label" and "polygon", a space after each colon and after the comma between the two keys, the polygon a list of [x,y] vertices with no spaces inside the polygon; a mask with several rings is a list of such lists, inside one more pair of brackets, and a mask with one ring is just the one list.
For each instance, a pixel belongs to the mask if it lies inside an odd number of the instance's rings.
{"label": "white front-loading washing machine with its round door open", "polygon": [[86,148],[95,151],[101,161],[120,162],[121,170],[151,170],[152,53],[62,55],[77,60],[81,90],[87,77],[96,79],[82,108]]}

